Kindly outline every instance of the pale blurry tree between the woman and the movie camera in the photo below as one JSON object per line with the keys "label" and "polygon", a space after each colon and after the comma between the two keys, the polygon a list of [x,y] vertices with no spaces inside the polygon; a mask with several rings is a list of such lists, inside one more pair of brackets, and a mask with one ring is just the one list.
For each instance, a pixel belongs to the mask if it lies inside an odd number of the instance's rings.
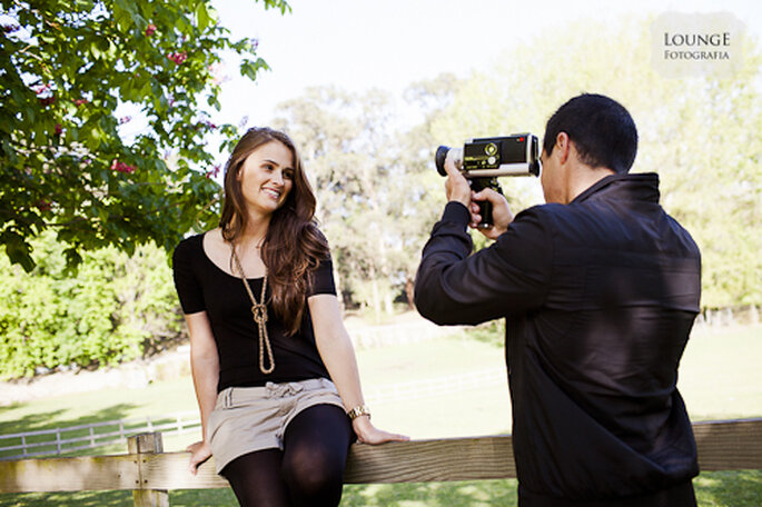
{"label": "pale blurry tree between the woman and the movie camera", "polygon": [[410,178],[420,167],[405,163],[409,145],[392,100],[377,90],[314,88],[280,105],[275,121],[294,138],[313,180],[339,289],[377,321],[393,311],[431,227],[406,233],[419,219],[420,186]]}

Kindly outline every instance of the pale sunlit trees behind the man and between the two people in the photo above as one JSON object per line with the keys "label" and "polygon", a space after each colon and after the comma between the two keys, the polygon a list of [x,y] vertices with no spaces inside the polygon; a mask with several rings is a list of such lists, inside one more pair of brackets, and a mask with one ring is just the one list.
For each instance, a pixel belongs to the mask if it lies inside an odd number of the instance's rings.
{"label": "pale sunlit trees behind the man and between the two people", "polygon": [[[489,72],[441,76],[405,93],[413,126],[389,118],[390,98],[310,90],[284,105],[278,126],[304,148],[321,218],[342,257],[344,288],[384,308],[413,279],[444,203],[432,160],[438,145],[532,131],[581,92],[621,101],[639,127],[633,171],[655,171],[662,202],[699,243],[705,308],[762,304],[762,56],[726,78],[667,79],[651,66],[647,19],[581,22],[517,46]],[[558,48],[564,51],[558,51]],[[542,64],[536,64],[542,62]],[[518,69],[532,69],[527,72]],[[386,107],[385,107],[386,106]],[[515,211],[542,202],[535,179],[504,178]],[[478,233],[475,242],[486,241]]]}

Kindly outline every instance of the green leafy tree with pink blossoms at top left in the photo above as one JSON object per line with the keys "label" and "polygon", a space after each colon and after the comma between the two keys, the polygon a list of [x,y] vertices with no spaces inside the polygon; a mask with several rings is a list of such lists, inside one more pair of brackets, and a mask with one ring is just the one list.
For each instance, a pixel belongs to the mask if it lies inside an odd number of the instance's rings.
{"label": "green leafy tree with pink blossoms at top left", "polygon": [[[216,66],[234,51],[254,80],[267,64],[256,40],[229,38],[210,3],[0,1],[0,245],[11,262],[30,271],[31,239],[47,229],[71,268],[82,249],[168,249],[214,221],[219,168],[206,139],[219,133],[226,147],[237,135],[209,120]],[[116,112],[126,105],[146,122],[131,138]]]}

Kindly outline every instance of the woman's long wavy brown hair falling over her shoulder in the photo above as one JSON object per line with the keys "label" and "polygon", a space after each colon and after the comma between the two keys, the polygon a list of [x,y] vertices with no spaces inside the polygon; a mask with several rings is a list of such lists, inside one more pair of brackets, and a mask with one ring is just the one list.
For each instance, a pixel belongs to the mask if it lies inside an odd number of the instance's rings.
{"label": "woman's long wavy brown hair falling over her shoulder", "polygon": [[315,193],[299,153],[286,133],[267,127],[253,128],[238,141],[225,166],[219,227],[222,238],[230,242],[246,230],[248,213],[238,172],[249,155],[271,141],[281,142],[294,156],[294,185],[286,201],[273,213],[260,252],[267,267],[275,315],[285,324],[286,332],[294,335],[301,325],[309,275],[328,257],[328,243],[315,221]]}

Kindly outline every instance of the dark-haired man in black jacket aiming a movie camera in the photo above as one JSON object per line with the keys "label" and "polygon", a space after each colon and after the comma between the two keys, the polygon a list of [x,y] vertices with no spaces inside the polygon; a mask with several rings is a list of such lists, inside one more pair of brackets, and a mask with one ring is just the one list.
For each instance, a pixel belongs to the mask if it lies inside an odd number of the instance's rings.
{"label": "dark-haired man in black jacket aiming a movie camera", "polygon": [[[701,259],[659,205],[657,175],[627,173],[636,150],[630,113],[582,95],[546,126],[546,205],[514,218],[446,163],[449,202],[415,301],[443,325],[506,319],[522,507],[695,506],[696,448],[675,384]],[[496,241],[469,256],[473,201],[485,199]]]}

